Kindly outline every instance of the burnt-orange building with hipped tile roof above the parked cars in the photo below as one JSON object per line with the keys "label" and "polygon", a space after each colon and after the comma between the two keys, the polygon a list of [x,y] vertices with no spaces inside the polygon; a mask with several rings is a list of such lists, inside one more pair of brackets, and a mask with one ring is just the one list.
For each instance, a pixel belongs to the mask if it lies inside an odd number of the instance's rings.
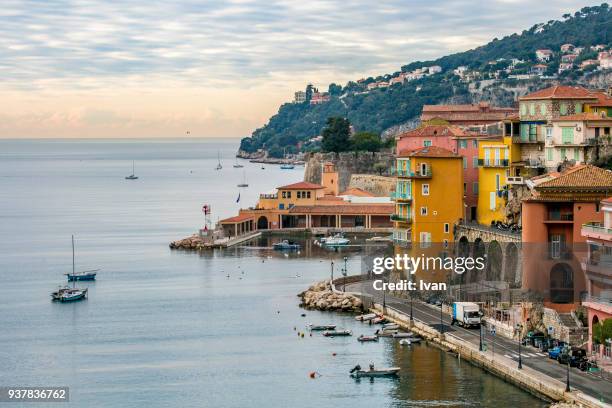
{"label": "burnt-orange building with hipped tile roof above the parked cars", "polygon": [[523,288],[567,313],[587,288],[582,225],[603,220],[600,202],[612,194],[612,172],[579,165],[532,181],[532,196],[522,203]]}

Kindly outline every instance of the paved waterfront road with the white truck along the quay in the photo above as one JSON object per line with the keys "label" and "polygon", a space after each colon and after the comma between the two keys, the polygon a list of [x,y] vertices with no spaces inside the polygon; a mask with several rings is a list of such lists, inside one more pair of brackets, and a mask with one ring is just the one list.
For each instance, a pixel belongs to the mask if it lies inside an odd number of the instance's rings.
{"label": "paved waterfront road with the white truck along the quay", "polygon": [[[341,287],[340,287],[341,289]],[[373,296],[377,303],[383,303],[382,292],[375,290],[368,282],[357,282],[348,284],[346,291],[364,291]],[[410,315],[410,301],[406,299],[394,298],[387,294],[385,296],[387,307],[392,307],[407,316]],[[451,317],[447,314],[440,314],[440,307],[429,305],[424,302],[414,300],[412,304],[414,318],[428,324],[430,327],[444,333],[458,337],[464,341],[478,346],[480,342],[478,329],[464,329],[459,326],[451,326]],[[486,353],[501,354],[517,362],[519,359],[518,342],[501,336],[491,336],[483,330],[483,342],[487,344]],[[521,347],[522,365],[537,370],[551,378],[555,378],[565,383],[567,377],[567,366],[559,364],[556,360],[548,358],[546,353],[540,352],[531,346]],[[585,373],[577,368],[570,368],[570,387],[590,395],[597,400],[612,403],[612,381],[602,378],[597,373]]]}

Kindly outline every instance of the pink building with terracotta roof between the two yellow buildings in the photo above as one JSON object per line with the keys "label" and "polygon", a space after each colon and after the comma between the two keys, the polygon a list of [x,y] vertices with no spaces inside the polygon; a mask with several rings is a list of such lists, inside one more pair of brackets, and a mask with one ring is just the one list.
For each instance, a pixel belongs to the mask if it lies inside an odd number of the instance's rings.
{"label": "pink building with terracotta roof between the two yellow buildings", "polygon": [[397,138],[397,151],[437,146],[463,157],[463,219],[476,220],[478,205],[478,140],[479,134],[467,132],[457,126],[424,125],[402,133]]}

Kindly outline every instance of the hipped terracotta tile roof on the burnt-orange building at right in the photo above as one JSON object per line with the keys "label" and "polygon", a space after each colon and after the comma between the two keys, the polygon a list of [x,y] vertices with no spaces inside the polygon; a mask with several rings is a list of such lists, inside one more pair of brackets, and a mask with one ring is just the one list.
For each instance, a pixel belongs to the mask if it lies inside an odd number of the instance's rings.
{"label": "hipped terracotta tile roof on the burnt-orange building at right", "polygon": [[612,171],[590,164],[581,164],[536,187],[536,189],[547,190],[557,188],[604,189],[612,191]]}

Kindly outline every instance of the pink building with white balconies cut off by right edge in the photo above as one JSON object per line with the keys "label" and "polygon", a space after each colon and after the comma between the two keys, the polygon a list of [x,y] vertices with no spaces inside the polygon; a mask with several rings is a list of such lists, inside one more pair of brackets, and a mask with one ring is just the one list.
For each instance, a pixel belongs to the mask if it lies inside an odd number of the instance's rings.
{"label": "pink building with white balconies cut off by right edge", "polygon": [[588,246],[582,264],[587,280],[587,296],[582,305],[589,313],[589,352],[610,358],[610,343],[595,339],[594,344],[593,326],[612,319],[612,197],[601,202],[600,210],[603,223],[595,221],[582,225],[582,236]]}

